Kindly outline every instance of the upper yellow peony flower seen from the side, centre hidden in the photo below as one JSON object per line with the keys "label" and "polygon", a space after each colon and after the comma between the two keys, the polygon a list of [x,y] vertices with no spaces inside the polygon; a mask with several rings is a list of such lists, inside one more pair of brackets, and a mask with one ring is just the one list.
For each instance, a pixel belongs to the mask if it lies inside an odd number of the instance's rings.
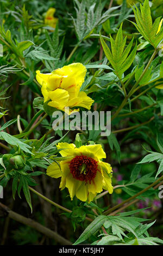
{"label": "upper yellow peony flower seen from the side, centre hidden", "polygon": [[[42,74],[37,70],[36,74],[36,80],[42,86],[44,102],[50,100],[49,106],[61,111],[65,111],[65,107],[91,108],[94,101],[85,92],[79,92],[86,74],[86,68],[82,63],[63,66],[49,74]],[[79,109],[73,111],[79,111]],[[71,109],[70,113],[72,113]]]}

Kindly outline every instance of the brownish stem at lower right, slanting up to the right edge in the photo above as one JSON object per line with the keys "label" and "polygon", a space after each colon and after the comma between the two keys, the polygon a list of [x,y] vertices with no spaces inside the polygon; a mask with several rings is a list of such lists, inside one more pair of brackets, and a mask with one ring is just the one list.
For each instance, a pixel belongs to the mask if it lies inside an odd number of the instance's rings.
{"label": "brownish stem at lower right, slanting up to the right edge", "polygon": [[160,182],[161,180],[163,180],[163,175],[156,180],[155,182],[153,182],[151,185],[149,185],[148,187],[144,188],[143,190],[141,190],[139,193],[136,193],[133,197],[128,198],[127,200],[123,201],[121,204],[115,205],[114,207],[112,207],[109,210],[106,210],[103,214],[108,215],[110,214],[112,211],[116,210],[117,208],[120,208],[122,205],[128,203],[130,200],[135,199],[136,197],[140,196],[141,194],[143,194],[144,192],[146,192],[147,190],[149,190],[151,187],[155,186],[156,184],[158,184],[158,182]]}

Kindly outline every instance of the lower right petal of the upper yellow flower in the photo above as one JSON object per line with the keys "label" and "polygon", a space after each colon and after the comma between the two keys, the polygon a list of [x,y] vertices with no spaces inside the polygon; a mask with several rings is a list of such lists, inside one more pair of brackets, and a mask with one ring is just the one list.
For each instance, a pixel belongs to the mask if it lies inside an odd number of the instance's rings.
{"label": "lower right petal of the upper yellow flower", "polygon": [[94,100],[91,97],[87,96],[85,92],[79,92],[78,97],[68,101],[68,106],[70,107],[84,107],[90,109]]}

